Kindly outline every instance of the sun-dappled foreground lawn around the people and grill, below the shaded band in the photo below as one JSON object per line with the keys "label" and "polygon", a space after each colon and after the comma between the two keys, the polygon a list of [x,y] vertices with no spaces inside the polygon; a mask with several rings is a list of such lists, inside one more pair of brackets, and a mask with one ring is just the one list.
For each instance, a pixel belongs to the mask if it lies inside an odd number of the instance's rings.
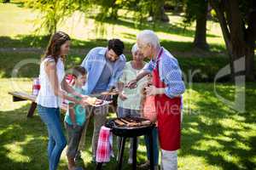
{"label": "sun-dappled foreground lawn around the people and grill, below the shaded band", "polygon": [[[0,169],[47,169],[47,130],[38,114],[26,118],[29,102],[12,102],[10,90],[31,89],[31,80],[0,79]],[[212,83],[194,83],[184,94],[182,149],[178,151],[179,169],[253,169],[256,166],[256,99],[255,83],[246,87],[246,112],[239,113],[224,105],[213,93]],[[217,91],[226,99],[233,99],[232,84],[218,84]],[[229,93],[227,93],[229,92]],[[64,114],[61,115],[63,119]],[[110,116],[114,116],[110,113]],[[94,169],[90,162],[93,124],[90,123],[86,150],[80,166]],[[114,140],[114,144],[115,144]],[[131,169],[125,149],[125,169]],[[143,139],[138,148],[137,161],[146,160]],[[115,168],[112,159],[104,169]],[[59,169],[67,169],[65,151]]]}

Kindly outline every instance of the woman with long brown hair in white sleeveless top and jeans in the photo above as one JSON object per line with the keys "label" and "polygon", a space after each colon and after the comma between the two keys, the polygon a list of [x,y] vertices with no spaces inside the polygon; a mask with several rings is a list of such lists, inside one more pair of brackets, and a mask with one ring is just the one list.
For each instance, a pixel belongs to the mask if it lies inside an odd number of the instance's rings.
{"label": "woman with long brown hair in white sleeveless top and jeans", "polygon": [[[65,81],[63,57],[67,55],[70,46],[70,37],[62,31],[56,32],[49,41],[49,46],[40,65],[40,91],[36,102],[38,114],[46,124],[49,134],[48,156],[49,170],[56,170],[60,161],[62,150],[67,141],[61,129],[59,107],[62,99],[73,101],[76,104],[86,105],[86,97],[77,94]],[[82,98],[74,99],[68,93]]]}

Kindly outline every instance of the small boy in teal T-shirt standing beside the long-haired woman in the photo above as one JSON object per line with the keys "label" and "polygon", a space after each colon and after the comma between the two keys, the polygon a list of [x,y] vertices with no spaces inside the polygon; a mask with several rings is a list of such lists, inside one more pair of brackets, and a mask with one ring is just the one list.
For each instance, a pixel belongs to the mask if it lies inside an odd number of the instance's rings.
{"label": "small boy in teal T-shirt standing beside the long-haired woman", "polygon": [[[84,94],[82,87],[86,81],[86,74],[84,67],[76,66],[73,68],[73,89],[79,93]],[[65,127],[67,129],[67,161],[68,170],[78,170],[75,165],[75,155],[79,147],[79,140],[83,131],[84,122],[86,121],[85,109],[82,105],[74,105],[68,102],[67,113],[65,116]]]}

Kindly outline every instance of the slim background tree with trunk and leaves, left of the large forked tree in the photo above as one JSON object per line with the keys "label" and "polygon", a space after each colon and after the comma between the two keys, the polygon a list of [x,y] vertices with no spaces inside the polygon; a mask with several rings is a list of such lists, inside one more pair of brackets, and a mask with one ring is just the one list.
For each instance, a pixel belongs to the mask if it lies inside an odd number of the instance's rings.
{"label": "slim background tree with trunk and leaves, left of the large forked tree", "polygon": [[208,49],[207,44],[207,0],[186,0],[185,20],[183,22],[189,26],[195,21],[194,45],[196,48]]}

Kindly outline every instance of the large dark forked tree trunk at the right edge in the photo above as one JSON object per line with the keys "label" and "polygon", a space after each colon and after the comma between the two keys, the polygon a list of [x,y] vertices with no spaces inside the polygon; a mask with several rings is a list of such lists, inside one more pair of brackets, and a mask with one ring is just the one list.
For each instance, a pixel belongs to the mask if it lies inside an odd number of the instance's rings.
{"label": "large dark forked tree trunk at the right edge", "polygon": [[256,1],[255,0],[210,0],[216,11],[223,32],[224,42],[230,55],[231,76],[234,79],[236,59],[245,57],[247,81],[253,81],[254,49],[256,41]]}

